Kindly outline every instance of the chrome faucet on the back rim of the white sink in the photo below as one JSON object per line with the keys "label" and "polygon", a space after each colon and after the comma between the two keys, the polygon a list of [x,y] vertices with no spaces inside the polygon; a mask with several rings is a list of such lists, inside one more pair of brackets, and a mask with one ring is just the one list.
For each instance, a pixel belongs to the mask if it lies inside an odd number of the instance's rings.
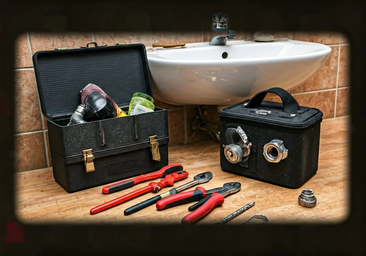
{"label": "chrome faucet on the back rim of the white sink", "polygon": [[222,12],[213,14],[209,45],[226,45],[228,38],[235,37],[236,32],[228,30],[228,19],[228,14]]}

